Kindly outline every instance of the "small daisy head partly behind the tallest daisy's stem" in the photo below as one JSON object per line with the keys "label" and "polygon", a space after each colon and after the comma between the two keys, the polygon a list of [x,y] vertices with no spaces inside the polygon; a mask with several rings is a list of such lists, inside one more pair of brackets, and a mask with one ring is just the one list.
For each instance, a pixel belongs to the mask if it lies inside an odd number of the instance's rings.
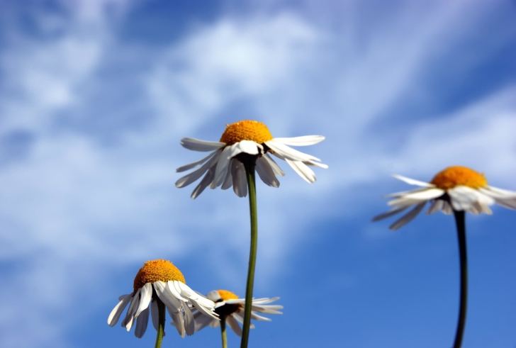
{"label": "small daisy head partly behind the tallest daisy's stem", "polygon": [[[227,290],[210,291],[206,297],[215,302],[215,313],[217,313],[220,318],[224,317],[231,329],[237,335],[242,336],[242,328],[238,323],[240,322],[242,324],[242,322],[244,322],[245,298],[238,298],[234,293]],[[257,313],[283,314],[278,311],[279,309],[283,309],[283,305],[267,305],[267,303],[277,300],[279,300],[279,297],[253,298],[251,319],[271,321],[269,318],[262,317]],[[196,320],[196,331],[208,325],[211,327],[218,327],[220,325],[220,320],[215,320],[201,312],[194,313],[194,318]],[[250,327],[254,329],[254,325],[251,324]]]}

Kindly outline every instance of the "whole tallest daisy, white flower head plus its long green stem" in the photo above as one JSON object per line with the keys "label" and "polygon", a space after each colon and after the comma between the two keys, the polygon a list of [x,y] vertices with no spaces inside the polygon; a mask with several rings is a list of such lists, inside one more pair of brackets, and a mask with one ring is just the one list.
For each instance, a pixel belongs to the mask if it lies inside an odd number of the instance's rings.
{"label": "whole tallest daisy, white flower head plus its long green stem", "polygon": [[[265,184],[279,187],[277,176],[285,173],[274,162],[274,157],[286,161],[295,172],[305,181],[313,183],[315,174],[310,167],[327,168],[320,163],[320,159],[307,155],[292,146],[314,145],[324,140],[322,135],[308,135],[304,137],[272,137],[269,128],[264,123],[255,120],[242,120],[226,125],[225,131],[218,142],[210,142],[184,137],[181,145],[186,149],[210,152],[202,159],[177,169],[185,172],[196,168],[176,181],[181,188],[192,184],[203,176],[196,186],[191,198],[196,198],[206,187],[229,189],[239,197],[247,196],[249,191],[249,213],[251,218],[251,247],[249,252],[249,270],[247,272],[247,286],[245,292],[245,315],[242,330],[241,347],[247,347],[249,340],[249,326],[251,324],[252,289],[254,284],[254,266],[256,264],[258,220],[256,203],[256,183],[254,173]],[[270,154],[270,155],[269,155]]]}

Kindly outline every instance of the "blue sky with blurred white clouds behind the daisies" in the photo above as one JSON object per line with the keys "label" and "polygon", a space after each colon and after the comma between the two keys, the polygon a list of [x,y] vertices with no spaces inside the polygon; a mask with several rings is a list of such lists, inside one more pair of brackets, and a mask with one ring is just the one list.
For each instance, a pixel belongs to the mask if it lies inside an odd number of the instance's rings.
{"label": "blue sky with blurred white clouds behind the daisies", "polygon": [[[1,1],[1,347],[152,347],[106,319],[147,259],[201,293],[245,293],[247,199],[176,189],[256,119],[329,169],[285,163],[257,187],[254,294],[284,314],[251,347],[449,347],[458,310],[450,216],[396,232],[386,193],[444,167],[516,190],[514,1]],[[305,150],[305,149],[303,149]],[[516,344],[516,212],[467,215],[464,347]],[[218,330],[164,347],[218,347]],[[231,347],[238,344],[232,333]]]}

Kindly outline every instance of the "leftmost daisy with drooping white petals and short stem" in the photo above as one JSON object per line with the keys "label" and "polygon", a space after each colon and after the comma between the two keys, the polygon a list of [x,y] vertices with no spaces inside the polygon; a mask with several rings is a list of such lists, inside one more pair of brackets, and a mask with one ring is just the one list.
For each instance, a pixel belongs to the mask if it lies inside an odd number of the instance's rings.
{"label": "leftmost daisy with drooping white petals and short stem", "polygon": [[118,300],[120,302],[108,317],[108,325],[116,325],[123,310],[129,305],[122,326],[129,331],[136,322],[135,336],[141,338],[147,330],[150,315],[157,331],[155,347],[161,347],[164,336],[165,308],[181,337],[185,333],[193,335],[195,332],[194,315],[189,305],[199,313],[218,320],[215,303],[189,288],[181,271],[164,259],[145,262],[136,274],[133,292],[120,296]]}

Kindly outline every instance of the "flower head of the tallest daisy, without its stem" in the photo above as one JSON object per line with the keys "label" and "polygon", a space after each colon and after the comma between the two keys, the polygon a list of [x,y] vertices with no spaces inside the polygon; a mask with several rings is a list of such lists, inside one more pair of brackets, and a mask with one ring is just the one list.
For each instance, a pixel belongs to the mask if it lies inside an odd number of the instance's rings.
{"label": "flower head of the tallest daisy, without its stem", "polygon": [[327,165],[319,163],[320,159],[293,150],[287,145],[314,145],[324,139],[325,137],[322,135],[272,137],[267,125],[255,120],[242,120],[226,125],[219,142],[184,137],[181,139],[181,145],[186,149],[201,152],[211,151],[211,153],[197,162],[176,169],[177,172],[184,172],[201,166],[176,181],[176,187],[188,186],[206,173],[192,192],[191,198],[196,198],[208,186],[210,189],[216,189],[221,185],[223,190],[233,186],[233,191],[237,196],[245,197],[247,195],[247,178],[244,165],[239,160],[239,155],[242,154],[256,155],[256,171],[260,179],[269,186],[279,187],[276,175],[284,176],[285,173],[269,156],[269,153],[286,161],[303,179],[313,183],[315,174],[308,166],[327,168]]}

